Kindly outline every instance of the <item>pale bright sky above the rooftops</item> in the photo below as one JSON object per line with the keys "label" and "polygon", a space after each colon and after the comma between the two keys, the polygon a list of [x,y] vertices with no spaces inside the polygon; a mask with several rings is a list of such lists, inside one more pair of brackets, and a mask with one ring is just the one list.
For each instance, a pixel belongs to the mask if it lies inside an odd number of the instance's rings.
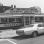
{"label": "pale bright sky above the rooftops", "polygon": [[33,6],[38,6],[44,13],[44,0],[0,0],[5,6],[16,5],[18,8],[30,8]]}

